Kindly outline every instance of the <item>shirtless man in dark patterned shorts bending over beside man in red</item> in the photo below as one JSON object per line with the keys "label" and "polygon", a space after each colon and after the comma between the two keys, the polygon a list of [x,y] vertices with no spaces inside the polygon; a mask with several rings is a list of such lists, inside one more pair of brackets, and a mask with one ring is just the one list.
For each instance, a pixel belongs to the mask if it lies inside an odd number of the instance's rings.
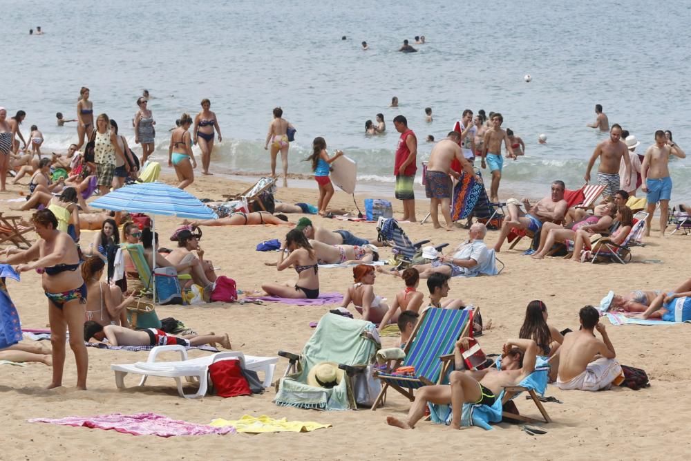
{"label": "shirtless man in dark patterned shorts bending over beside man in red", "polygon": [[[472,126],[472,125],[471,125]],[[468,131],[466,130],[466,134]],[[425,193],[430,199],[430,216],[435,229],[439,229],[439,205],[442,205],[442,215],[446,220],[446,230],[453,230],[453,220],[451,219],[451,194],[453,185],[451,176],[458,178],[460,175],[451,169],[453,160],[459,162],[466,174],[475,176],[473,165],[463,155],[460,147],[461,135],[457,131],[450,131],[446,139],[435,144],[430,153],[425,173]],[[451,176],[449,176],[451,175]],[[479,179],[479,178],[478,178]]]}

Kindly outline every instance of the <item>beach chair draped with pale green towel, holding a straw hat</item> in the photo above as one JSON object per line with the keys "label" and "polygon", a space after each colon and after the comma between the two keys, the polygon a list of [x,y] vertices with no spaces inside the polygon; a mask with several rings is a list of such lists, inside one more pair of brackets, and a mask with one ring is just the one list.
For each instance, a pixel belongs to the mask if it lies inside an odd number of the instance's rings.
{"label": "beach chair draped with pale green towel, holding a straw hat", "polygon": [[344,373],[340,382],[331,388],[311,386],[307,377],[322,362],[338,364],[340,369],[366,369],[379,348],[381,341],[374,323],[325,314],[301,355],[278,352],[290,364],[278,380],[274,403],[315,410],[354,410],[357,408],[354,374]]}

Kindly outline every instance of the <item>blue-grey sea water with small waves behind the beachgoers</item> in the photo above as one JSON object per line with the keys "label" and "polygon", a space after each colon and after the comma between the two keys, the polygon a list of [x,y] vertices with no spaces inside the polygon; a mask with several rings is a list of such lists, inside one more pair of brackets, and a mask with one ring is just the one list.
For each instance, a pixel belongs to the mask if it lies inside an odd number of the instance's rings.
{"label": "blue-grey sea water with small waves behind the beachgoers", "polygon": [[[0,105],[26,111],[43,151],[64,151],[79,88],[95,114],[117,120],[133,145],[135,101],[146,88],[157,122],[155,158],[167,160],[168,130],[209,98],[223,133],[215,171],[269,171],[263,149],[272,109],[297,129],[290,171],[309,173],[315,136],[357,160],[359,178],[392,182],[405,115],[419,142],[418,164],[464,109],[501,112],[526,144],[507,160],[502,187],[531,196],[562,179],[583,185],[587,161],[607,135],[585,125],[602,104],[609,122],[641,141],[657,129],[691,153],[689,1],[0,1],[3,53]],[[30,28],[42,36],[30,36]],[[341,40],[345,35],[346,40]],[[415,35],[427,43],[413,44]],[[418,53],[398,53],[403,39]],[[370,50],[361,50],[361,41]],[[530,83],[523,76],[529,73]],[[388,107],[392,96],[397,109]],[[424,121],[433,108],[434,122]],[[366,136],[383,113],[387,132]],[[545,133],[547,144],[538,144]],[[139,152],[138,148],[135,151]],[[195,148],[198,154],[198,150]],[[479,163],[479,162],[478,162]],[[278,169],[280,171],[280,160]],[[691,200],[691,160],[672,160],[672,202]],[[597,166],[593,169],[594,180]],[[419,178],[418,178],[419,180]]]}

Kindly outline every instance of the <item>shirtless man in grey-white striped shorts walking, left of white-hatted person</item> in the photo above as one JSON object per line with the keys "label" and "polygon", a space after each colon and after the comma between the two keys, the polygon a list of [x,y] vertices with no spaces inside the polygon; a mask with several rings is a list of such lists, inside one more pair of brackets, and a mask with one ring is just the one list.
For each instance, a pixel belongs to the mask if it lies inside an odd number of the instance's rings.
{"label": "shirtless man in grey-white striped shorts walking, left of white-hatted person", "polygon": [[626,165],[626,176],[624,177],[624,188],[628,187],[631,178],[631,159],[626,143],[621,140],[621,126],[618,123],[612,125],[609,131],[609,139],[600,142],[595,148],[593,155],[588,162],[588,169],[585,171],[585,182],[590,182],[590,171],[595,165],[595,160],[600,158],[598,167],[598,184],[606,186],[603,196],[606,201],[612,200],[614,193],[621,189],[619,187],[619,165],[623,158]]}

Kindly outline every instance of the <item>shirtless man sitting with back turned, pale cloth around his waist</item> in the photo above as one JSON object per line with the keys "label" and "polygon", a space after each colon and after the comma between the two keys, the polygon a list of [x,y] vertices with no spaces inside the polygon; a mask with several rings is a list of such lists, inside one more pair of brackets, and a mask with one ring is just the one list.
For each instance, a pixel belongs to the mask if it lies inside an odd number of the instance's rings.
{"label": "shirtless man sitting with back turned, pale cloth around his waist", "polygon": [[[559,371],[556,385],[569,391],[600,391],[609,389],[612,382],[621,374],[621,366],[614,359],[616,352],[612,341],[600,321],[600,312],[591,305],[581,309],[581,328],[565,335],[559,348]],[[597,339],[593,330],[597,329],[603,339]]]}

